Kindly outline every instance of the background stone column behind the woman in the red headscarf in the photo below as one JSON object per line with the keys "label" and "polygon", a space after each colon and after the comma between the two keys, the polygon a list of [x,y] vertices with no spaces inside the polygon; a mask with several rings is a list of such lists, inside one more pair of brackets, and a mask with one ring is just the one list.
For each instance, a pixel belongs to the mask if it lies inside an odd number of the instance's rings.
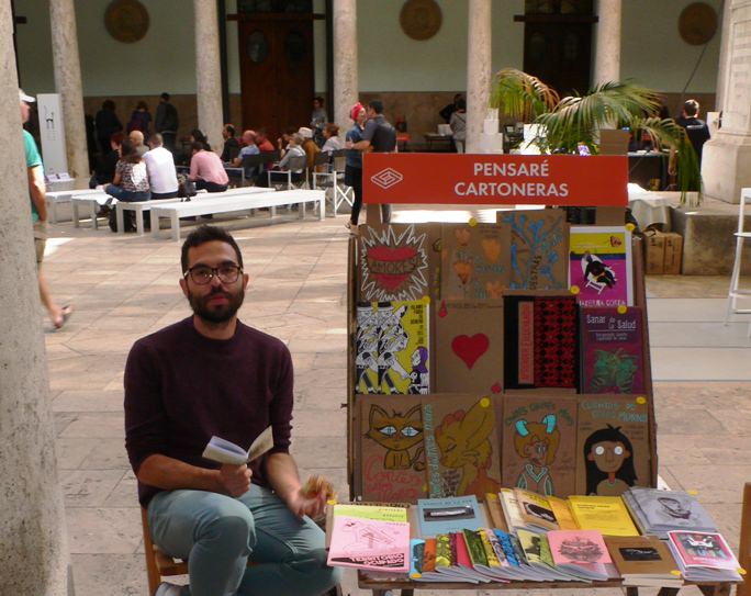
{"label": "background stone column behind the woman in the red headscarf", "polygon": [[357,0],[334,0],[334,122],[349,127],[349,110],[358,99]]}

